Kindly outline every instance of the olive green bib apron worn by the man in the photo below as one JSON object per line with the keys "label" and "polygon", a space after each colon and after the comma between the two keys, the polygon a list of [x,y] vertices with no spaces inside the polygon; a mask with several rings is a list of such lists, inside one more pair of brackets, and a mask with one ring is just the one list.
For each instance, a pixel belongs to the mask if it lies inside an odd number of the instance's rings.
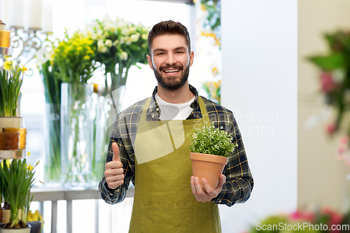
{"label": "olive green bib apron worn by the man", "polygon": [[218,206],[197,202],[190,186],[193,175],[190,138],[193,128],[209,122],[194,120],[146,121],[146,101],[135,139],[135,194],[130,233],[221,233]]}

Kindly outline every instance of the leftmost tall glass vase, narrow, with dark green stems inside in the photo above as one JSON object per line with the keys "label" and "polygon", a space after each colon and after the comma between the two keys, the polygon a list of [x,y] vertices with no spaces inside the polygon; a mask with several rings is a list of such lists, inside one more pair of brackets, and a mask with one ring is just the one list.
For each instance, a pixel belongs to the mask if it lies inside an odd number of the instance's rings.
{"label": "leftmost tall glass vase, narrow, with dark green stems inside", "polygon": [[44,182],[48,186],[62,185],[61,176],[61,118],[60,104],[45,104]]}

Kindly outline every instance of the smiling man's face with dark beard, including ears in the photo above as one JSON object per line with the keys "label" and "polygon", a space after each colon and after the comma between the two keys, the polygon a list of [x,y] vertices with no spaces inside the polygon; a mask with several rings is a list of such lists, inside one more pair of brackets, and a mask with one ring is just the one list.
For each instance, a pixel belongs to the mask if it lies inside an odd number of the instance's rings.
{"label": "smiling man's face with dark beard, including ears", "polygon": [[153,39],[151,56],[147,55],[148,64],[162,87],[175,90],[186,83],[194,55],[193,51],[188,51],[184,36],[156,36]]}

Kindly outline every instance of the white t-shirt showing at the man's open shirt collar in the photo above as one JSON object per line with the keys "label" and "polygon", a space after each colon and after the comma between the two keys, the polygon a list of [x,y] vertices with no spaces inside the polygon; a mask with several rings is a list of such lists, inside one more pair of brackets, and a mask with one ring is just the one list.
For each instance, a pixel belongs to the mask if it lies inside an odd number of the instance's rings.
{"label": "white t-shirt showing at the man's open shirt collar", "polygon": [[183,104],[171,104],[160,99],[158,93],[156,93],[155,100],[160,108],[160,120],[186,120],[193,111],[190,105],[195,100],[195,97]]}

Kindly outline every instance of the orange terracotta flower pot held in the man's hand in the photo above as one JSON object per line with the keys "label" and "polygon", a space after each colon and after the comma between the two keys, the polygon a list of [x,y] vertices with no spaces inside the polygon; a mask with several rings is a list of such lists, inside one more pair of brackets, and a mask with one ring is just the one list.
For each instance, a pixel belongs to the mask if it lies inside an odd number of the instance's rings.
{"label": "orange terracotta flower pot held in the man's hand", "polygon": [[228,163],[228,157],[190,153],[190,159],[192,160],[193,176],[197,176],[200,179],[202,188],[204,188],[202,178],[205,178],[211,188],[216,189],[218,187],[220,175],[223,173],[223,169]]}

